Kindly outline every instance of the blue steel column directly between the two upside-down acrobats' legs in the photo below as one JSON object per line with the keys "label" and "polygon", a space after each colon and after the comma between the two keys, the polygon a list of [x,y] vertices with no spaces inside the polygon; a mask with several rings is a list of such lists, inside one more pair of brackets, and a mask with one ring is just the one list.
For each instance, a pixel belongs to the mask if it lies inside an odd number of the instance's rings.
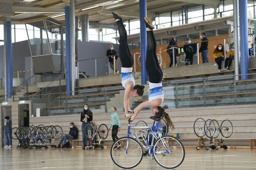
{"label": "blue steel column directly between the two upside-down acrobats' legs", "polygon": [[145,67],[147,41],[146,41],[146,26],[145,26],[145,22],[144,22],[144,17],[146,17],[146,0],[140,0],[141,84],[146,84],[146,81],[147,81],[147,73],[146,73],[146,67]]}

